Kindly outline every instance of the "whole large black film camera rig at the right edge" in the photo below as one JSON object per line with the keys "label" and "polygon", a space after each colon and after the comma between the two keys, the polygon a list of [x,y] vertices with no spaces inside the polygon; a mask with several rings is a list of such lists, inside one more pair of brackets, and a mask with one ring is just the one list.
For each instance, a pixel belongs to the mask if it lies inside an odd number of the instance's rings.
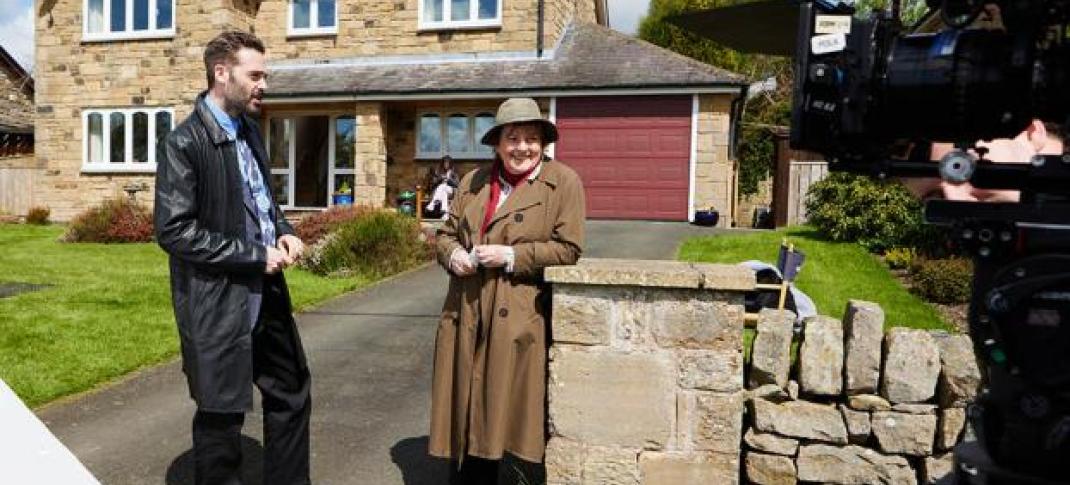
{"label": "whole large black film camera rig at the right edge", "polygon": [[[1013,203],[926,207],[975,260],[969,330],[987,379],[968,412],[978,441],[956,450],[956,480],[1070,483],[1070,154],[994,164],[975,149],[1034,119],[1067,124],[1070,1],[928,0],[920,29],[892,1],[868,18],[839,0],[773,0],[672,21],[794,56],[792,147],[830,169],[1021,191]],[[933,141],[957,149],[933,163]]]}

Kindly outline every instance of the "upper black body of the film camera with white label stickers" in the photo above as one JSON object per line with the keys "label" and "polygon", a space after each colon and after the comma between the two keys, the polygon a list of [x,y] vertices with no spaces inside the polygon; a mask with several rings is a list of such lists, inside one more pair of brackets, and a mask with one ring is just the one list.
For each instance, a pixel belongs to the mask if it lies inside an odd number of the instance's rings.
{"label": "upper black body of the film camera with white label stickers", "polygon": [[840,169],[866,171],[902,143],[972,147],[1013,137],[1033,119],[1067,121],[1070,2],[947,0],[930,6],[939,7],[945,28],[907,33],[886,11],[858,19],[841,3],[800,5],[793,148],[823,153],[844,165]]}

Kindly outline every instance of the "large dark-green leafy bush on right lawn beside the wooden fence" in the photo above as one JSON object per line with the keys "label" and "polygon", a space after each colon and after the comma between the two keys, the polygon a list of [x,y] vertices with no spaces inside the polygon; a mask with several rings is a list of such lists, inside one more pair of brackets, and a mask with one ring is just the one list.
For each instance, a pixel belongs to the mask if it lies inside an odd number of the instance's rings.
{"label": "large dark-green leafy bush on right lawn beside the wooden fence", "polygon": [[928,247],[937,238],[922,219],[921,201],[898,182],[836,172],[810,187],[806,204],[810,224],[827,238],[870,252]]}

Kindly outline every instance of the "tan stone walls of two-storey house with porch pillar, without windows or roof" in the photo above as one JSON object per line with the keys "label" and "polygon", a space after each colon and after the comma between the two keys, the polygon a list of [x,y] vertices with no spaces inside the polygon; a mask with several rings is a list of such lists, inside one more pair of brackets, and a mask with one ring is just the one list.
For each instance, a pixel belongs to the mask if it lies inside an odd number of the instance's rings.
{"label": "tan stone walls of two-storey house with porch pillar, without windows or roof", "polygon": [[[418,31],[418,1],[341,1],[337,35],[299,37],[287,35],[286,1],[175,0],[173,37],[109,42],[82,40],[83,0],[56,1],[35,16],[41,73],[35,110],[34,165],[41,169],[33,187],[36,202],[49,207],[54,219],[65,221],[104,198],[122,196],[127,183],[143,182],[151,190],[154,173],[150,171],[82,170],[82,111],[166,107],[173,109],[178,124],[204,89],[204,44],[223,30],[255,32],[268,45],[269,61],[535,49],[537,0],[503,2],[500,28],[437,32]],[[547,2],[547,48],[553,47],[574,16],[594,20],[594,11],[593,1]],[[316,107],[317,112],[335,108]],[[358,202],[381,206],[387,187],[408,184],[408,180],[387,182],[386,108],[378,103],[351,107],[360,124],[354,192]],[[151,197],[140,200],[151,202]]]}

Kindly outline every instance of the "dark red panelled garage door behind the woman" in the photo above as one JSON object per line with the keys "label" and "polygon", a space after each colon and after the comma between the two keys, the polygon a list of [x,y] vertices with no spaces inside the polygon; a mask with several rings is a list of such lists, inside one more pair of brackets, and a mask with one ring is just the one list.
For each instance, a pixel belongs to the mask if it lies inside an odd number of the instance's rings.
{"label": "dark red panelled garage door behind the woman", "polygon": [[557,128],[588,217],[687,221],[691,96],[559,97]]}

